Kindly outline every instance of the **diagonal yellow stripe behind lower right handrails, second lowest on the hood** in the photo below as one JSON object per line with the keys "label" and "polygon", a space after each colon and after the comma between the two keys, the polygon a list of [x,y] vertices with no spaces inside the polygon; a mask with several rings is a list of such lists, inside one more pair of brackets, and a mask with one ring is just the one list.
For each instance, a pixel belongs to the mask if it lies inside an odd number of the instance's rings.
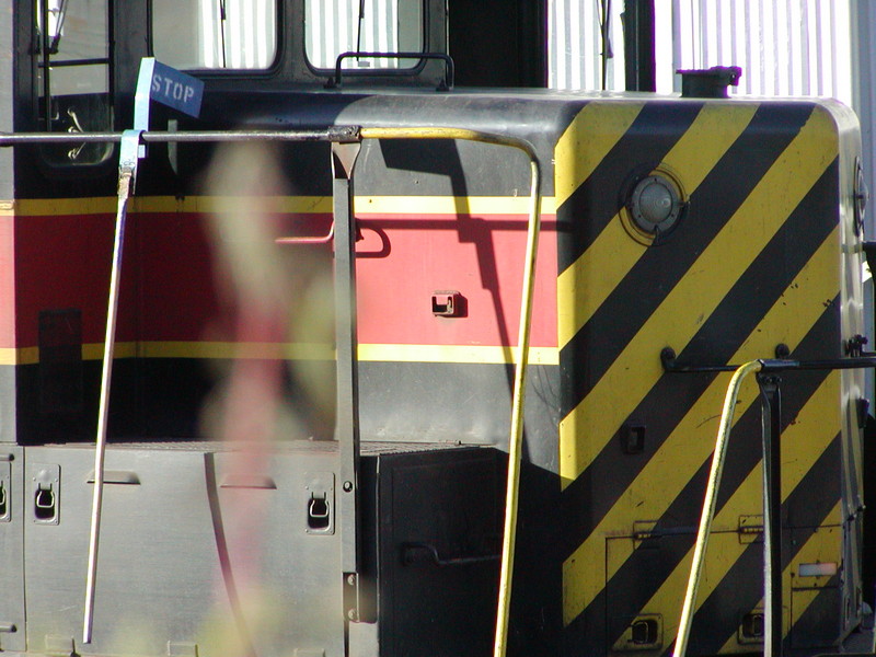
{"label": "diagonal yellow stripe behind lower right handrails, second lowest on the hood", "polygon": [[[826,426],[822,415],[825,408],[835,407],[839,399],[839,377],[835,373],[831,373],[815,392],[810,402],[800,411],[796,422],[788,426],[782,436],[782,447],[784,448],[782,450],[783,500],[786,500],[791,492],[800,484],[803,477],[818,460],[818,457],[830,446],[840,430],[838,422],[828,423]],[[787,468],[789,464],[793,465],[789,461],[797,461],[797,466]],[[759,462],[758,466],[749,473],[742,484],[734,492],[721,512],[715,516],[715,525],[728,528],[736,527],[740,515],[760,515],[762,512],[761,482],[762,474]],[[826,522],[834,522],[839,519],[838,505],[828,515]],[[698,591],[698,610],[749,546],[748,543],[741,543],[738,540],[736,532],[724,533],[729,534],[731,538],[721,542],[721,550],[717,550],[717,546],[706,550],[706,577],[703,578]],[[712,538],[715,535],[713,533]],[[659,610],[659,613],[664,614],[664,632],[667,637],[671,637],[678,632],[681,600],[688,586],[692,561],[693,548],[643,608],[643,613],[658,613],[657,610]]]}

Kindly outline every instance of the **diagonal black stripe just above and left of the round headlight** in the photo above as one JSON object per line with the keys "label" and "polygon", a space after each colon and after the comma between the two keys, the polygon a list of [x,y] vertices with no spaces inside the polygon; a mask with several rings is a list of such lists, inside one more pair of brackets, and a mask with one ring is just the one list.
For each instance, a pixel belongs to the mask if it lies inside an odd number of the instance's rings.
{"label": "diagonal black stripe just above and left of the round headlight", "polygon": [[[557,208],[560,272],[578,260],[623,206],[633,170],[653,170],[690,128],[702,103],[649,102],[590,176]],[[586,221],[577,220],[584,214]]]}

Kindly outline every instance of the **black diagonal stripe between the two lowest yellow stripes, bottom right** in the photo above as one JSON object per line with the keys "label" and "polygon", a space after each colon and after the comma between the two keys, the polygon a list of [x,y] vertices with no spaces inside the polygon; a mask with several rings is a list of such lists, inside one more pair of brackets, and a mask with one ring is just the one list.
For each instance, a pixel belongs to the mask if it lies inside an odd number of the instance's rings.
{"label": "black diagonal stripe between the two lowest yellow stripes, bottom right", "polygon": [[[795,526],[793,528],[793,537],[786,527],[783,528],[782,569],[793,563],[799,550],[818,531],[818,528],[825,523],[828,519],[828,514],[840,500],[839,486],[833,487],[831,493],[827,493],[822,482],[835,479],[834,473],[840,470],[841,456],[842,443],[838,434],[788,496],[791,505],[806,505],[811,510],[812,525],[806,527]],[[838,540],[840,539],[841,533],[838,534]],[[695,646],[693,649],[705,655],[717,654],[718,649],[731,636],[740,612],[747,613],[763,597],[762,568],[763,543],[752,543],[730,567],[721,584],[706,598],[694,615],[691,632],[691,646]],[[785,606],[791,603],[787,598],[788,595],[791,595],[789,591],[783,592],[783,603]],[[835,631],[832,641],[839,638],[838,616],[840,613],[839,604],[829,613]],[[722,626],[718,624],[721,621],[725,621],[723,626],[730,630],[729,633],[715,632],[716,626]],[[825,631],[823,626],[819,629],[819,633]],[[832,643],[832,641],[829,643]]]}

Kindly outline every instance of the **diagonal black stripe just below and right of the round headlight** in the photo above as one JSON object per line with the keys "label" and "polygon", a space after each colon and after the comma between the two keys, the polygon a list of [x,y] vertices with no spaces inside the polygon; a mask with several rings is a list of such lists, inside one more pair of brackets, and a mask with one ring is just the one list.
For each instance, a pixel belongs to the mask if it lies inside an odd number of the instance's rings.
{"label": "diagonal black stripe just below and right of the round headlight", "polygon": [[[671,239],[648,249],[593,316],[562,348],[563,416],[599,382],[796,137],[810,112],[810,107],[802,105],[761,106],[748,128],[693,192],[687,217]],[[814,200],[809,195],[809,204]],[[834,214],[835,208],[832,208],[828,216]]]}

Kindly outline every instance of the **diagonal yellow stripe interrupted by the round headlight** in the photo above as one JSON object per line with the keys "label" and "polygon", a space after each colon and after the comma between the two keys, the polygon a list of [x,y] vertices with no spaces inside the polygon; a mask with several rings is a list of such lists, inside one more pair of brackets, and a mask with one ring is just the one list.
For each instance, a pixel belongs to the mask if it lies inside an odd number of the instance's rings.
{"label": "diagonal yellow stripe interrupted by the round headlight", "polygon": [[[739,138],[758,107],[703,106],[662,162],[678,176],[687,195],[700,186]],[[560,162],[557,159],[557,166]],[[587,251],[560,275],[556,298],[561,348],[575,337],[646,251],[645,245],[630,238],[615,215]]]}

